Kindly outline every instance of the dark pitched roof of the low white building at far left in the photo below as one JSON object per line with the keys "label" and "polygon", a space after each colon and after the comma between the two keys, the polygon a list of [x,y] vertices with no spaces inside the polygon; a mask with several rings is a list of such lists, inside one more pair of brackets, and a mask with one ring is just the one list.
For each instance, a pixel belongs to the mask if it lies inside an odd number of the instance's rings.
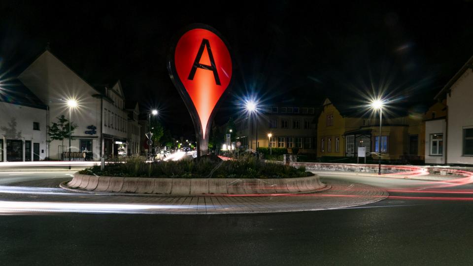
{"label": "dark pitched roof of the low white building at far left", "polygon": [[46,104],[16,78],[0,83],[0,101],[39,109],[47,108]]}

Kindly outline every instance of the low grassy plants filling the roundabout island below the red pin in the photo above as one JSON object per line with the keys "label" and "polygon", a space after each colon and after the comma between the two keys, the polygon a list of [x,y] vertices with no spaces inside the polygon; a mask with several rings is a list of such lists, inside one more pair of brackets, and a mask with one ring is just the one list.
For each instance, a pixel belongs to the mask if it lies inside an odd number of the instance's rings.
{"label": "low grassy plants filling the roundabout island below the red pin", "polygon": [[122,177],[156,178],[292,178],[312,175],[305,167],[296,168],[276,163],[265,163],[252,156],[221,161],[215,158],[181,160],[177,162],[145,163],[141,158],[111,162],[101,171],[93,166],[80,171],[82,174]]}

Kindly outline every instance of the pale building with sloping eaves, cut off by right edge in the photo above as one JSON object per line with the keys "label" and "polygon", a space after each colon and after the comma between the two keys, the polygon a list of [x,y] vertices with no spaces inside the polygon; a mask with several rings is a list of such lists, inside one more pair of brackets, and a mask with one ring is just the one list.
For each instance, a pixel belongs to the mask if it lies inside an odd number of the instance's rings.
{"label": "pale building with sloping eaves, cut off by right edge", "polygon": [[472,64],[473,57],[436,96],[439,100],[447,100],[446,150],[444,151],[446,164],[473,165]]}

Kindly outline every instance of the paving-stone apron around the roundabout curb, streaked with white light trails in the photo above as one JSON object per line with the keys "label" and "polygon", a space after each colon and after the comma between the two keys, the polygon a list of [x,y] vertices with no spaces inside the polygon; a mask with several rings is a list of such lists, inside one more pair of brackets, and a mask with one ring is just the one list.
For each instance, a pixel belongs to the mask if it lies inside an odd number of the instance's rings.
{"label": "paving-stone apron around the roundabout curb, streaked with white light trails", "polygon": [[[330,183],[331,189],[303,195],[266,196],[266,197],[136,197],[136,196],[110,196],[73,193],[58,187],[60,182],[70,178],[43,179],[25,181],[10,186],[17,186],[18,193],[12,188],[3,187],[0,190],[0,200],[15,202],[46,202],[44,209],[28,209],[28,212],[101,212],[95,204],[111,204],[119,213],[147,213],[147,214],[231,214],[231,213],[270,213],[312,211],[353,207],[376,202],[388,197],[382,189],[369,185],[348,182]],[[24,187],[29,194],[22,193]],[[35,194],[37,192],[37,194]],[[47,202],[50,204],[48,209]],[[57,204],[59,203],[59,204]],[[67,203],[85,203],[74,209],[74,205],[62,207]],[[88,207],[90,204],[90,210]],[[105,204],[104,204],[105,205]],[[112,206],[113,205],[113,206]],[[129,208],[131,205],[139,209]],[[93,208],[94,207],[94,208]],[[120,208],[123,207],[123,208]],[[0,213],[8,211],[0,204]],[[21,210],[19,210],[21,211]],[[103,211],[106,211],[104,209]],[[113,212],[113,210],[110,210]]]}

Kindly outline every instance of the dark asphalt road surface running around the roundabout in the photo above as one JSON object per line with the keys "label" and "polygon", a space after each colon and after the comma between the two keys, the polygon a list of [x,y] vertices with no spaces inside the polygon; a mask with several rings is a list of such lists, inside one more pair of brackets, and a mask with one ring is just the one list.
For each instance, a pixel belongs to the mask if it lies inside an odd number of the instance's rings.
{"label": "dark asphalt road surface running around the roundabout", "polygon": [[[46,175],[10,176],[0,184]],[[390,189],[427,184],[322,177]],[[443,193],[459,189],[465,193]],[[472,265],[473,202],[438,199],[473,197],[470,191],[472,185],[390,192],[409,198],[297,213],[3,215],[0,265]]]}

